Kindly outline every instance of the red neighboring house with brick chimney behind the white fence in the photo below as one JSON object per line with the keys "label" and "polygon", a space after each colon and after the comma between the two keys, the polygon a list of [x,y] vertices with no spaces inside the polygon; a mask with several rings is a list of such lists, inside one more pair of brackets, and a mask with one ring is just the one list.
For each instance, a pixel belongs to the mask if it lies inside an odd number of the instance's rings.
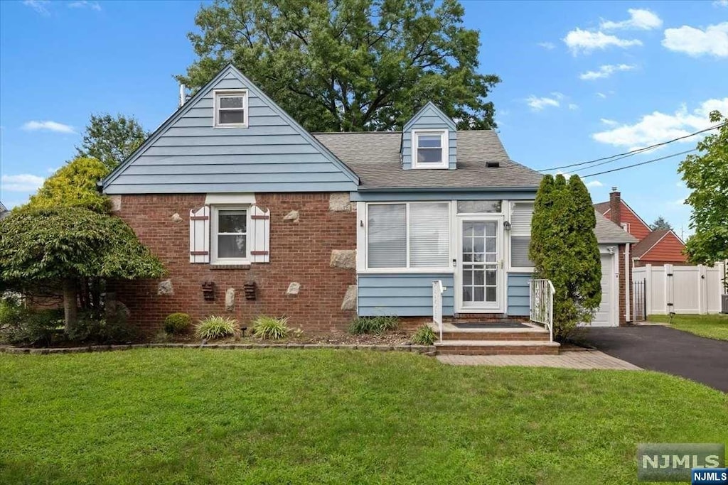
{"label": "red neighboring house with brick chimney behind the white fence", "polygon": [[687,257],[683,254],[685,244],[675,231],[672,229],[652,231],[649,225],[622,200],[616,187],[612,187],[609,201],[594,204],[594,208],[639,240],[633,246],[631,254],[633,266],[688,264]]}

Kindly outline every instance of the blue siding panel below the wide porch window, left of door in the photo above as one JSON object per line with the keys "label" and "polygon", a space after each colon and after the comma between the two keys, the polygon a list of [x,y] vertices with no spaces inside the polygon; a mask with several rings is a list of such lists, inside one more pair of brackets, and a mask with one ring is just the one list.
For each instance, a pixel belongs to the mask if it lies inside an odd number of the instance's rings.
{"label": "blue siding panel below the wide porch window, left of door", "polygon": [[360,316],[432,316],[432,281],[446,286],[443,316],[454,314],[452,273],[360,274],[358,313]]}

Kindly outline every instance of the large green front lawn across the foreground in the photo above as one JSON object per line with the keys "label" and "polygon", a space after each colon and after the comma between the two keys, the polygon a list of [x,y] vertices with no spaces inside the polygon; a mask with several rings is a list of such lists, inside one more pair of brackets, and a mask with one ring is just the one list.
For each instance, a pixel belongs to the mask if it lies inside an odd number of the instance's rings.
{"label": "large green front lawn across the foreground", "polygon": [[727,409],[654,372],[409,353],[0,354],[0,483],[621,485],[640,442],[728,441]]}

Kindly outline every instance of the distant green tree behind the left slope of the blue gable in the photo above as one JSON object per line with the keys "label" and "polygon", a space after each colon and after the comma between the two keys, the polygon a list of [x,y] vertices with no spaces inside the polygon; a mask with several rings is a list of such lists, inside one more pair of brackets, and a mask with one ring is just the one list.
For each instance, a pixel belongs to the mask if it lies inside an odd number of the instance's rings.
{"label": "distant green tree behind the left slope of the blue gable", "polygon": [[110,171],[139,148],[149,132],[133,116],[92,114],[84,131],[79,157],[99,159]]}

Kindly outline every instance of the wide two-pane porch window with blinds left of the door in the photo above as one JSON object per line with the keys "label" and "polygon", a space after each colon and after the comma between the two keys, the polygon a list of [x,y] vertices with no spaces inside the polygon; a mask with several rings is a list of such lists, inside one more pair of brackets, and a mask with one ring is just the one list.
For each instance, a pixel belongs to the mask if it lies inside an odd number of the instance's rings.
{"label": "wide two-pane porch window with blinds left of the door", "polygon": [[368,204],[367,268],[449,270],[450,204]]}

